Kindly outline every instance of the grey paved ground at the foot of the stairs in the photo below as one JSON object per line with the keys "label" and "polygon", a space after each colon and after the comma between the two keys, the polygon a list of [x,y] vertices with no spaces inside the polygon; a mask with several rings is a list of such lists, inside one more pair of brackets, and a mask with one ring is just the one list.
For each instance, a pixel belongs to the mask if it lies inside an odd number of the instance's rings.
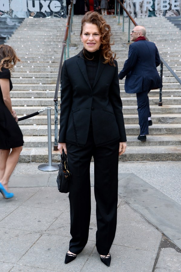
{"label": "grey paved ground at the foot of the stairs", "polygon": [[[110,267],[100,261],[95,247],[94,164],[88,243],[76,260],[66,265],[64,257],[71,238],[68,194],[58,192],[57,171],[42,172],[38,165],[18,164],[9,183],[15,197],[7,200],[0,196],[1,272],[181,271],[179,193],[175,200],[169,196],[172,190],[163,193],[154,177],[163,179],[165,168],[174,169],[178,177],[179,162],[119,164],[117,232],[110,249]],[[173,173],[169,174],[171,177]]]}

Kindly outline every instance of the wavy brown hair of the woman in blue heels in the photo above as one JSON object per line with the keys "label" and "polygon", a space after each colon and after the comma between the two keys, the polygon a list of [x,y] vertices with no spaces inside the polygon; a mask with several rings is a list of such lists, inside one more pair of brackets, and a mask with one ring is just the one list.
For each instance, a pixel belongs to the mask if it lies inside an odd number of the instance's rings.
{"label": "wavy brown hair of the woman in blue heels", "polygon": [[17,57],[15,50],[11,46],[6,44],[0,45],[0,72],[2,72],[2,68],[14,71],[13,67],[18,61],[21,60]]}

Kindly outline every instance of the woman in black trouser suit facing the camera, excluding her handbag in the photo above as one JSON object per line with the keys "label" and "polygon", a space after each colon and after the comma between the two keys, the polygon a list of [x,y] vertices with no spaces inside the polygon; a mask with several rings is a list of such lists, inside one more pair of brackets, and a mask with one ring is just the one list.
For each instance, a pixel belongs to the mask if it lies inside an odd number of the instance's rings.
{"label": "woman in black trouser suit facing the camera, excluding her handbag", "polygon": [[126,133],[110,26],[97,12],[82,18],[83,50],[64,61],[58,150],[67,153],[70,184],[71,236],[65,263],[85,247],[91,215],[90,163],[94,157],[96,247],[110,265],[110,247],[117,224],[118,155],[125,152]]}

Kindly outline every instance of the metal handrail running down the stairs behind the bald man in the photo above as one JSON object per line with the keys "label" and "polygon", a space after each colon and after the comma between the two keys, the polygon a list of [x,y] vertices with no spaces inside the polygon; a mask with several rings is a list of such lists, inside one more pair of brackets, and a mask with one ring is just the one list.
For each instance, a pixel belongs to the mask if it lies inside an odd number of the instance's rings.
{"label": "metal handrail running down the stairs behind the bald man", "polygon": [[[129,11],[127,11],[127,9],[124,7],[124,5],[120,2],[120,0],[117,0],[117,2],[119,3],[119,5],[123,8],[123,11],[126,12],[126,14],[129,17],[129,28],[128,28],[128,32],[130,32],[130,20],[133,22],[133,24],[135,26],[137,26],[138,24],[136,23],[136,21],[134,21],[134,19],[132,18],[132,16],[130,15]],[[116,8],[116,7],[115,7]],[[119,8],[119,12],[120,12],[120,8]],[[124,12],[123,12],[123,25],[124,25]],[[123,30],[124,31],[124,30]],[[146,36],[145,36],[146,38]],[[148,38],[146,38],[148,40]],[[129,42],[129,39],[128,39]],[[172,70],[172,68],[170,68],[170,66],[168,65],[168,63],[163,59],[163,57],[160,56],[160,78],[161,78],[161,82],[163,79],[163,64],[166,66],[166,68],[169,70],[169,72],[175,77],[175,79],[178,81],[178,83],[180,83],[181,85],[181,80],[179,79],[179,77],[176,75],[176,73],[174,73],[174,71]],[[159,92],[159,106],[162,106],[162,87],[160,88],[160,92]]]}

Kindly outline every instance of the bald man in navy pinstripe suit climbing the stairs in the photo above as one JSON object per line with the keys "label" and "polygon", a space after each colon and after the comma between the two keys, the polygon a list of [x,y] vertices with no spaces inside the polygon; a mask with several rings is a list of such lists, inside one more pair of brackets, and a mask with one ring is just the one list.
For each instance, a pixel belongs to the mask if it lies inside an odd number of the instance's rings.
{"label": "bald man in navy pinstripe suit climbing the stairs", "polygon": [[146,141],[148,126],[152,125],[148,93],[151,89],[162,86],[156,69],[160,64],[160,57],[156,45],[146,40],[146,29],[137,25],[130,33],[131,41],[128,59],[119,73],[119,79],[125,79],[125,92],[136,93],[140,135],[138,140]]}

